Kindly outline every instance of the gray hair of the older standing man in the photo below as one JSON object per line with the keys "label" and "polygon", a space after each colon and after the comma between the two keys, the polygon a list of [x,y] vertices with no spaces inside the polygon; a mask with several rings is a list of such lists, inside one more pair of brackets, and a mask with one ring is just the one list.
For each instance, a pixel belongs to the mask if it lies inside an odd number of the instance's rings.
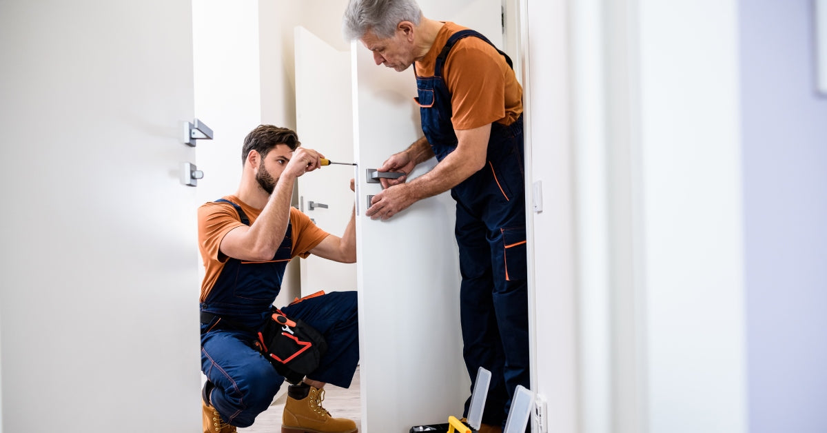
{"label": "gray hair of the older standing man", "polygon": [[347,2],[342,32],[352,41],[373,31],[376,37],[387,39],[394,36],[400,22],[419,25],[422,10],[416,0],[350,0]]}

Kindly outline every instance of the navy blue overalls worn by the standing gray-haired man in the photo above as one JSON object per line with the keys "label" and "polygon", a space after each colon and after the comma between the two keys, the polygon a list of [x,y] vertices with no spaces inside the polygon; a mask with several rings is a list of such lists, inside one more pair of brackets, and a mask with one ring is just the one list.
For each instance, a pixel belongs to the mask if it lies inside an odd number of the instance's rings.
{"label": "navy blue overalls worn by the standing gray-haired man", "polygon": [[[468,36],[493,46],[476,31],[457,31],[437,56],[434,76],[416,77],[422,129],[438,161],[457,148],[442,67],[454,44]],[[492,123],[486,166],[451,190],[457,200],[462,354],[471,383],[480,366],[492,373],[485,424],[502,424],[514,389],[529,387],[524,184],[520,116],[509,126]]]}

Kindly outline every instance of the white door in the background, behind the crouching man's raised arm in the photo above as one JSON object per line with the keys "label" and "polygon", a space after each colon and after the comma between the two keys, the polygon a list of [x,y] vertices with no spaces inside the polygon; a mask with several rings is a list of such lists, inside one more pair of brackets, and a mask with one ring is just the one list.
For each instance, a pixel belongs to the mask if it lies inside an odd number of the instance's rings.
{"label": "white door in the background, behind the crouching man's raised arm", "polygon": [[[350,51],[337,51],[304,27],[295,29],[296,132],[302,147],[334,162],[354,162]],[[324,67],[318,60],[324,59]],[[350,180],[356,166],[323,166],[299,178],[299,209],[322,229],[341,236],[351,219]],[[316,256],[299,262],[302,296],[356,290],[356,265]]]}

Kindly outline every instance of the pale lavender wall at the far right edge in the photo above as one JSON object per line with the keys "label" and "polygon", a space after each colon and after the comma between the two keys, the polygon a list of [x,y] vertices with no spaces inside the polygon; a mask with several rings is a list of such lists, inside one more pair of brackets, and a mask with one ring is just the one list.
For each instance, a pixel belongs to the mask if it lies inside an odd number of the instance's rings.
{"label": "pale lavender wall at the far right edge", "polygon": [[827,95],[812,0],[740,2],[749,431],[827,431]]}

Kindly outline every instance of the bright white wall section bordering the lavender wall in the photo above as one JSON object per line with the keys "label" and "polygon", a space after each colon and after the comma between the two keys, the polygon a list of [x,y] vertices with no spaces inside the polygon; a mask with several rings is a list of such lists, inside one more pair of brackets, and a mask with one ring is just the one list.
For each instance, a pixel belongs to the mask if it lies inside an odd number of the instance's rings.
{"label": "bright white wall section bordering the lavender wall", "polygon": [[737,2],[639,7],[649,428],[743,432]]}

